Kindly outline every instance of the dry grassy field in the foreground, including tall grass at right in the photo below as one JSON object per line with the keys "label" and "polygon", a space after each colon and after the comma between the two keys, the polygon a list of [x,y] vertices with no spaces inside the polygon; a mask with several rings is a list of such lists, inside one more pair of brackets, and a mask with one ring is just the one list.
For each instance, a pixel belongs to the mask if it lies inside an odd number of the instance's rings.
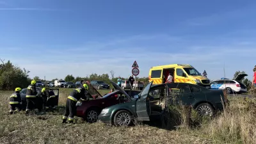
{"label": "dry grassy field in the foreground, including tall grass at right", "polygon": [[[59,107],[45,115],[26,116],[24,111],[8,115],[12,92],[0,91],[0,143],[253,143],[256,141],[256,105],[234,98],[220,116],[195,129],[173,131],[154,125],[114,127],[87,124],[76,118],[75,125],[61,124],[64,104],[72,89],[60,89]],[[104,95],[109,90],[100,90]],[[255,104],[255,103],[254,103]],[[254,113],[253,113],[254,111]]]}

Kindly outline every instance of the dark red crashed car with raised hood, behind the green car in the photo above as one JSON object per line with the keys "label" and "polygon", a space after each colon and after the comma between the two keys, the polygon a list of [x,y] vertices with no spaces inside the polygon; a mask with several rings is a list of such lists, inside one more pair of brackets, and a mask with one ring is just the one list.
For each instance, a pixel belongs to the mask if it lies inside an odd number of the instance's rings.
{"label": "dark red crashed car with raised hood, behind the green car", "polygon": [[[80,103],[77,102],[77,113],[76,116],[83,118],[86,122],[93,123],[97,122],[100,112],[104,108],[126,102],[128,99],[120,91],[108,93],[104,96],[100,95],[91,84],[89,85],[89,97],[91,100]],[[141,91],[137,90],[125,90],[130,97],[138,95]]]}

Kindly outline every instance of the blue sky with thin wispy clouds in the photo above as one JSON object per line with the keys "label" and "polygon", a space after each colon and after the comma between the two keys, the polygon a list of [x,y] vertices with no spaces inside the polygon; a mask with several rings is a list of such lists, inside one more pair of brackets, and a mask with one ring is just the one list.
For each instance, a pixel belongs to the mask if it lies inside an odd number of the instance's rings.
{"label": "blue sky with thin wispy clouds", "polygon": [[[173,63],[252,79],[256,1],[0,0],[0,58],[29,76],[139,77]],[[224,75],[225,69],[225,75]]]}

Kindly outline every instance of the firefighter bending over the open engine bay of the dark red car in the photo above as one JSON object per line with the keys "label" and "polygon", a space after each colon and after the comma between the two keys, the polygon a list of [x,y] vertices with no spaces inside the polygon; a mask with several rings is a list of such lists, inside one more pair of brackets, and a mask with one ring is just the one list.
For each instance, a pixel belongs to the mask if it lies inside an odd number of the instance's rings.
{"label": "firefighter bending over the open engine bay of the dark red car", "polygon": [[70,95],[67,98],[65,114],[63,115],[63,124],[67,123],[67,119],[69,124],[74,124],[73,121],[74,116],[76,115],[76,103],[80,99],[82,101],[88,100],[88,98],[86,97],[88,90],[88,85],[83,84],[82,86],[76,88],[70,93]]}

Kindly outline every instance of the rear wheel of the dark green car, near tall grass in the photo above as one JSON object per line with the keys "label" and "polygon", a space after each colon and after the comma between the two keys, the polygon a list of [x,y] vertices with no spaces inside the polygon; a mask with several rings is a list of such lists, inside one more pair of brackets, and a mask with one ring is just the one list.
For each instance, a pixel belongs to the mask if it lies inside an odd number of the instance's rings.
{"label": "rear wheel of the dark green car, near tall grass", "polygon": [[213,116],[214,114],[214,109],[210,104],[204,103],[200,104],[199,106],[196,107],[196,111],[198,112],[198,115],[200,116]]}

